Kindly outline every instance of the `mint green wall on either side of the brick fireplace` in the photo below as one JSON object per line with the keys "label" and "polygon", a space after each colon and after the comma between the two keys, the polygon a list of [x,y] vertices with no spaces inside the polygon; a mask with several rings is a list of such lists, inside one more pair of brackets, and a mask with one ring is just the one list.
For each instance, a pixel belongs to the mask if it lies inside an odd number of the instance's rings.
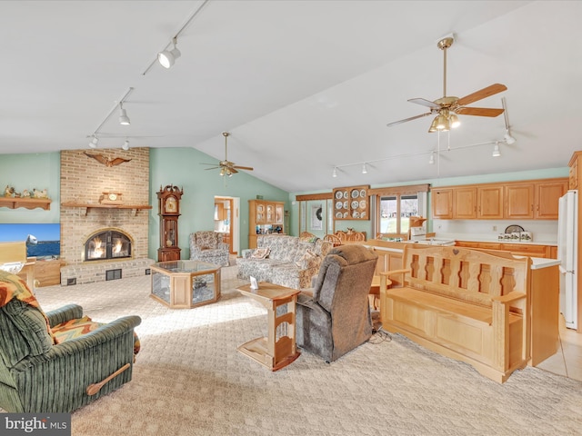
{"label": "mint green wall on either side of the brick fireplace", "polygon": [[[217,163],[216,159],[193,148],[150,150],[150,204],[148,256],[157,259],[159,220],[156,192],[160,186],[174,184],[184,188],[179,219],[179,246],[182,259],[190,256],[188,237],[198,230],[214,230],[215,195],[240,198],[240,250],[248,247],[248,200],[263,195],[266,200],[286,203],[288,193],[262,182],[245,171],[233,177],[221,177],[218,170],[206,171],[200,163]],[[49,211],[42,209],[8,209],[0,207],[0,223],[60,222],[60,153],[0,155],[0,186],[6,184],[17,192],[33,188],[47,189],[52,200]]]}

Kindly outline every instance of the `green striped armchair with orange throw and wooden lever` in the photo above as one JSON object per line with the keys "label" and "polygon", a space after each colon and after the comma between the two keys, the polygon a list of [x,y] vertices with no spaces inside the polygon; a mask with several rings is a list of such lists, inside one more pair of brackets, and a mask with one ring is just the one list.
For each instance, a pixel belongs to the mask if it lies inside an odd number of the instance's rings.
{"label": "green striped armchair with orange throw and wooden lever", "polygon": [[115,391],[131,380],[140,322],[92,322],[75,304],[45,313],[22,279],[0,271],[0,407],[71,412]]}

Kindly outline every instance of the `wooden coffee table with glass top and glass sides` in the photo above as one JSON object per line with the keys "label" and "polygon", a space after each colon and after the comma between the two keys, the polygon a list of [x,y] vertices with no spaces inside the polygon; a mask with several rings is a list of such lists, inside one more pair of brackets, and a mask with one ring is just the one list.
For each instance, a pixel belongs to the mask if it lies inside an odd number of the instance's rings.
{"label": "wooden coffee table with glass top and glass sides", "polygon": [[220,265],[200,261],[154,263],[150,296],[172,309],[190,309],[220,297]]}

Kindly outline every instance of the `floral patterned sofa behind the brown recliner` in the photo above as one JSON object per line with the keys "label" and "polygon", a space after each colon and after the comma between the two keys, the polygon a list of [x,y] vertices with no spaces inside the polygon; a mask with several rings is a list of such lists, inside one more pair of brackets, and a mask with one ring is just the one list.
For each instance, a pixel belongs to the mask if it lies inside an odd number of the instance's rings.
{"label": "floral patterned sofa behind the brown recliner", "polygon": [[262,235],[256,238],[256,249],[246,250],[236,259],[238,278],[255,277],[258,282],[271,282],[294,289],[312,286],[313,276],[332,243],[319,238],[286,235]]}

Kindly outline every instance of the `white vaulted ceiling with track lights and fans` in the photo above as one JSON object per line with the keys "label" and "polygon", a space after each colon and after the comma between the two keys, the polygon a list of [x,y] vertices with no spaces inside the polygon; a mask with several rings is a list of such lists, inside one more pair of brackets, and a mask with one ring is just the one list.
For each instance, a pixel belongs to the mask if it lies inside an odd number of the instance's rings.
{"label": "white vaulted ceiling with track lights and fans", "polygon": [[[112,111],[99,148],[128,138],[223,159],[228,131],[229,160],[289,192],[565,167],[582,148],[582,2],[211,0],[162,68],[156,53],[201,5],[0,2],[0,154],[88,148]],[[506,98],[517,143],[499,158],[477,144],[503,139],[503,115],[462,116],[440,144],[431,117],[386,127],[426,112],[407,99],[443,95],[437,40],[450,33],[447,94],[507,85],[470,104]]]}

